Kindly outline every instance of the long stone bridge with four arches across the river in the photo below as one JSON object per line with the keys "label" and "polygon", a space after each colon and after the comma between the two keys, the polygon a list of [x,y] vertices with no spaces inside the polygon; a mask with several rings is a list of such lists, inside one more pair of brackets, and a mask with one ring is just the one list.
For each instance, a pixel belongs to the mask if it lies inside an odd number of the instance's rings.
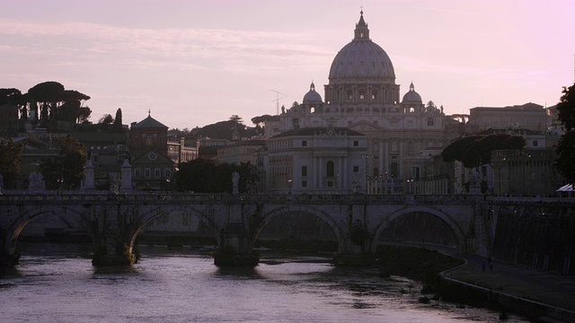
{"label": "long stone bridge with four arches across the river", "polygon": [[217,265],[254,265],[252,249],[261,229],[292,213],[317,217],[332,229],[338,243],[336,264],[373,255],[385,228],[405,214],[432,214],[447,223],[462,253],[488,255],[494,230],[493,211],[484,196],[4,195],[0,196],[0,261],[17,263],[18,237],[40,215],[58,216],[90,232],[95,266],[132,264],[134,242],[146,226],[160,217],[192,215],[216,238]]}

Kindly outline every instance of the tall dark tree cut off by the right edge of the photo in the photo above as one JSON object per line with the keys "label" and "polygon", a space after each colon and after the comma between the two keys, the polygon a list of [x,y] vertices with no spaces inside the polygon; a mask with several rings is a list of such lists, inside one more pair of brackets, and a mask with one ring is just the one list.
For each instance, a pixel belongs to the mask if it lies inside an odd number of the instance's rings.
{"label": "tall dark tree cut off by the right edge of the photo", "polygon": [[563,95],[557,103],[557,118],[565,127],[565,133],[557,144],[559,157],[555,165],[568,183],[575,184],[575,84],[563,87]]}

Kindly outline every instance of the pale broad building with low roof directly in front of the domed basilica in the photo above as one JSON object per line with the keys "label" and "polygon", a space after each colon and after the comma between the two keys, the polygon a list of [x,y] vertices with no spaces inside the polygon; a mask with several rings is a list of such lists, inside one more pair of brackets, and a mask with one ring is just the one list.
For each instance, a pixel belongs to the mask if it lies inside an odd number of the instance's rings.
{"label": "pale broad building with low roof directly in front of the domed basilica", "polygon": [[267,192],[366,191],[367,136],[342,127],[306,127],[268,140],[263,162]]}

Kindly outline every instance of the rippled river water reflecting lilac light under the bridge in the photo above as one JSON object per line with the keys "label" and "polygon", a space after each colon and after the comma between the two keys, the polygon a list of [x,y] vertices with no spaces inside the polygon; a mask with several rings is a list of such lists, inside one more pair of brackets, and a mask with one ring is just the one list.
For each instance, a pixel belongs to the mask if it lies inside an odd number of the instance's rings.
{"label": "rippled river water reflecting lilac light under the bridge", "polygon": [[421,304],[416,282],[324,258],[219,269],[205,252],[140,246],[136,265],[96,269],[88,246],[21,245],[21,264],[0,276],[1,322],[499,322],[491,310]]}

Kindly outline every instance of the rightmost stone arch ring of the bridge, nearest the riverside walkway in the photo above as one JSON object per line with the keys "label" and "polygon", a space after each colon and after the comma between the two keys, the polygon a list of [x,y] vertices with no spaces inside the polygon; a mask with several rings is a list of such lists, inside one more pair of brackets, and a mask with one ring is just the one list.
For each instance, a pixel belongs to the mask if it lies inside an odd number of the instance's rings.
{"label": "rightmost stone arch ring of the bridge, nearest the riverside walkway", "polygon": [[392,223],[395,219],[397,219],[403,215],[418,213],[418,212],[434,215],[434,216],[438,217],[440,220],[442,220],[444,223],[447,223],[447,225],[451,228],[451,230],[456,235],[457,249],[459,251],[462,251],[462,252],[465,250],[465,247],[466,247],[465,232],[464,232],[464,230],[462,230],[461,226],[459,225],[459,223],[456,222],[456,220],[453,218],[453,216],[447,214],[446,212],[444,212],[444,211],[442,211],[436,207],[426,206],[426,205],[410,205],[410,206],[406,206],[406,207],[400,208],[398,210],[395,210],[391,214],[385,216],[384,220],[381,223],[377,223],[376,229],[374,231],[374,243],[372,244],[373,250],[371,250],[371,251],[376,252],[377,241],[381,238],[382,233],[390,225],[390,223]]}

